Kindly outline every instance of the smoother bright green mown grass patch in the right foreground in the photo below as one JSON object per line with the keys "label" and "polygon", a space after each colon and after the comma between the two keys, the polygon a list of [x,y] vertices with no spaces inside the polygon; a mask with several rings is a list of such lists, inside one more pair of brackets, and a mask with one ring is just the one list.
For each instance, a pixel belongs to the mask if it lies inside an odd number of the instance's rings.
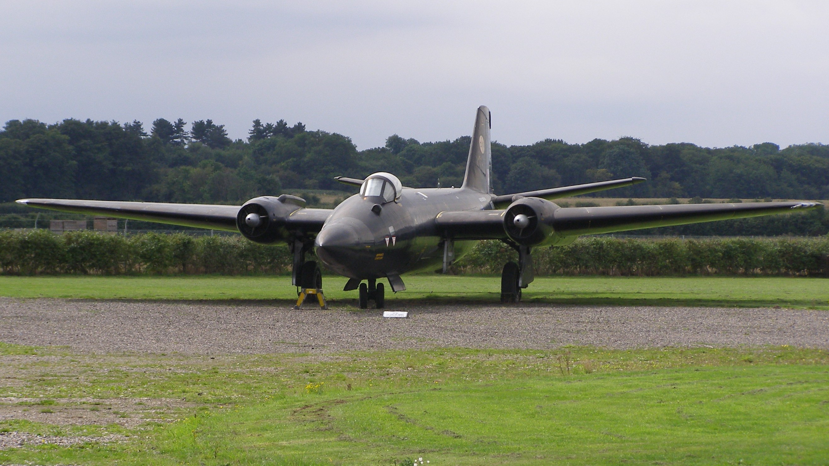
{"label": "smoother bright green mown grass patch in the right foreground", "polygon": [[[727,382],[724,382],[726,381]],[[286,398],[188,420],[194,453],[342,464],[820,464],[829,368],[682,369]],[[821,405],[824,403],[824,405]],[[189,440],[189,439],[188,439]],[[543,461],[542,461],[543,459]]]}

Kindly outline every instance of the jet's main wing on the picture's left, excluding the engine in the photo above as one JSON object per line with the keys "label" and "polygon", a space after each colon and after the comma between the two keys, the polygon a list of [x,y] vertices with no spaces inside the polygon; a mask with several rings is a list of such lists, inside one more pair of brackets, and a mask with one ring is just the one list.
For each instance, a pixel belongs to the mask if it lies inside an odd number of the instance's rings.
{"label": "jet's main wing on the picture's left, excluding the engine", "polygon": [[[216,204],[173,204],[168,202],[86,201],[82,199],[20,199],[18,204],[90,216],[111,216],[129,220],[155,221],[221,231],[239,231],[236,214],[241,206]],[[331,209],[300,208],[285,221],[289,229],[320,231]]]}

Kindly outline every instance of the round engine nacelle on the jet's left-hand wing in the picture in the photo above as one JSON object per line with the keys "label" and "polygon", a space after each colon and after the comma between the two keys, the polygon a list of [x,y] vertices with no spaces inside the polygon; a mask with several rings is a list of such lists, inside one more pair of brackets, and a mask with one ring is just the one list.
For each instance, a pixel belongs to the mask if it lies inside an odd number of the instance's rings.
{"label": "round engine nacelle on the jet's left-hand wing in the picture", "polygon": [[236,227],[245,238],[257,243],[287,241],[285,221],[293,211],[305,206],[302,197],[283,194],[279,197],[254,197],[245,202],[236,214]]}

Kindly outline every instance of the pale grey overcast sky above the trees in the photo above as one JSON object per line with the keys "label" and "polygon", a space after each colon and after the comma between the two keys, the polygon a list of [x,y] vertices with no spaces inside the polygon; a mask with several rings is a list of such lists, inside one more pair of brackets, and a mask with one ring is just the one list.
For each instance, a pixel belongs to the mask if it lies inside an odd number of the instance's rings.
{"label": "pale grey overcast sky above the trees", "polygon": [[[516,5],[516,3],[520,3]],[[829,2],[0,0],[0,119],[829,143]]]}

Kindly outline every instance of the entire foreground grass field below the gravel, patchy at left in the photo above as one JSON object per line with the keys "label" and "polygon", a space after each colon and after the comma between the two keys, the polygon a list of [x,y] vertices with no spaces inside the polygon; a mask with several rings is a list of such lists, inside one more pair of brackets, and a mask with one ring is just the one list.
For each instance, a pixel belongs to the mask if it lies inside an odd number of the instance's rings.
{"label": "entire foreground grass field below the gravel, patchy at left", "polygon": [[[825,464],[829,352],[793,347],[91,355],[0,346],[3,464]],[[117,422],[50,423],[64,410]],[[148,410],[162,400],[161,415]],[[46,414],[44,414],[46,413]],[[23,415],[25,417],[25,413]],[[158,419],[159,417],[164,419]],[[119,442],[99,442],[102,435]]]}

